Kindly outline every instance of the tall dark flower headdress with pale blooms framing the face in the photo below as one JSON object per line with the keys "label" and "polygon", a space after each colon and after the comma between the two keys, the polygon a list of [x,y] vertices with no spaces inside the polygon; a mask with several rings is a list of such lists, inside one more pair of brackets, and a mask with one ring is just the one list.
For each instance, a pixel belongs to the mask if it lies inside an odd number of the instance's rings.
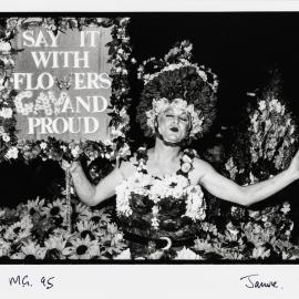
{"label": "tall dark flower headdress with pale blooms framing the face", "polygon": [[190,116],[189,138],[203,136],[215,116],[217,76],[205,66],[192,63],[193,45],[176,44],[164,56],[151,58],[138,68],[144,89],[137,107],[137,121],[146,136],[155,134],[156,116],[169,106]]}

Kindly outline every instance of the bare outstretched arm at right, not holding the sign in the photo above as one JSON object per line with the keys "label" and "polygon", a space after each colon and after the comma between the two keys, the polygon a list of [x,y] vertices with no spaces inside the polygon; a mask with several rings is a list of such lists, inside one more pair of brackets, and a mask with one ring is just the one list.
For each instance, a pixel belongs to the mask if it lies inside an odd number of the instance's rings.
{"label": "bare outstretched arm at right, not holding the sign", "polygon": [[288,169],[249,186],[239,186],[218,174],[208,163],[202,159],[195,161],[196,169],[200,174],[199,183],[210,194],[231,203],[249,206],[276,194],[299,178],[299,154],[296,154]]}

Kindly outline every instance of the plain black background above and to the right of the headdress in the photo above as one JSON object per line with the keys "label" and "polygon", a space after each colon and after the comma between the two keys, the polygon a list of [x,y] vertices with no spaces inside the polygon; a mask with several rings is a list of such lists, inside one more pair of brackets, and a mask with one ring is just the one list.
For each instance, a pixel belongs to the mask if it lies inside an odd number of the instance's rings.
{"label": "plain black background above and to the right of the headdress", "polygon": [[130,34],[137,61],[161,56],[176,42],[194,44],[194,61],[219,78],[218,122],[238,122],[247,92],[262,86],[278,68],[291,110],[298,114],[299,13],[136,13]]}

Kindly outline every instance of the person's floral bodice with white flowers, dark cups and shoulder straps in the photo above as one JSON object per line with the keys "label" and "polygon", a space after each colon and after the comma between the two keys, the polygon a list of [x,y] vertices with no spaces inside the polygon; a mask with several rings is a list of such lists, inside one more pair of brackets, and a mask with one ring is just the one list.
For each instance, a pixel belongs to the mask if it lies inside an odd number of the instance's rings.
{"label": "person's floral bodice with white flowers, dark cups and shoulder straps", "polygon": [[185,150],[176,173],[157,176],[147,171],[146,150],[137,151],[136,172],[116,187],[116,212],[125,231],[173,239],[195,234],[206,209],[200,186],[188,178],[195,154]]}

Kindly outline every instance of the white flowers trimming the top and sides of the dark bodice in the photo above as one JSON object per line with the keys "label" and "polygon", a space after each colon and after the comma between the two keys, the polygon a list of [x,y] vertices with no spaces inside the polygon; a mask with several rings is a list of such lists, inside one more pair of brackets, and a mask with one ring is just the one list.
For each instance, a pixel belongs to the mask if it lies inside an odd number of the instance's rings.
{"label": "white flowers trimming the top and sides of the dark bodice", "polygon": [[184,152],[182,157],[182,174],[172,174],[163,177],[153,176],[144,172],[145,159],[140,159],[137,171],[116,187],[116,210],[118,215],[130,217],[133,213],[130,199],[134,195],[147,197],[154,203],[152,208],[152,227],[158,228],[158,203],[165,198],[177,200],[186,198],[186,213],[183,216],[194,221],[203,220],[205,214],[204,194],[199,185],[190,185],[187,174],[192,166],[192,158]]}

